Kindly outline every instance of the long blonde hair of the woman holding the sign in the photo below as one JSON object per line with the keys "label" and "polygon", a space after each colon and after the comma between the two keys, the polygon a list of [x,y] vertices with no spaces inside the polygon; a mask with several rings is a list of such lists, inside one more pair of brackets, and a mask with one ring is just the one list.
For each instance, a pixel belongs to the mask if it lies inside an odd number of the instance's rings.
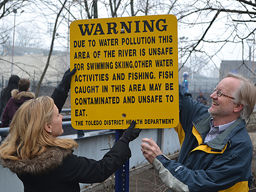
{"label": "long blonde hair of the woman holding the sign", "polygon": [[53,110],[54,101],[49,96],[24,102],[13,116],[9,138],[0,147],[1,157],[11,160],[32,159],[45,152],[49,146],[76,149],[76,141],[51,138],[44,129],[44,125],[52,121]]}

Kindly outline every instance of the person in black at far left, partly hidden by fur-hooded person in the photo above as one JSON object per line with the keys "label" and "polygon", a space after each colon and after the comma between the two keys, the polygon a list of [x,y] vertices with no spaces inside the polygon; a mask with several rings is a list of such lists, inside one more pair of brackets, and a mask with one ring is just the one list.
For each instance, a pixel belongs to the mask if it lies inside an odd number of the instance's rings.
{"label": "person in black at far left, partly hidden by fur-hooded person", "polygon": [[15,88],[18,88],[18,82],[20,80],[19,76],[13,75],[9,78],[9,82],[7,87],[5,87],[1,91],[1,96],[0,96],[0,116],[1,116],[1,121],[2,121],[2,113],[4,113],[4,108],[7,102],[9,101],[10,98],[12,98],[11,91],[14,90]]}

